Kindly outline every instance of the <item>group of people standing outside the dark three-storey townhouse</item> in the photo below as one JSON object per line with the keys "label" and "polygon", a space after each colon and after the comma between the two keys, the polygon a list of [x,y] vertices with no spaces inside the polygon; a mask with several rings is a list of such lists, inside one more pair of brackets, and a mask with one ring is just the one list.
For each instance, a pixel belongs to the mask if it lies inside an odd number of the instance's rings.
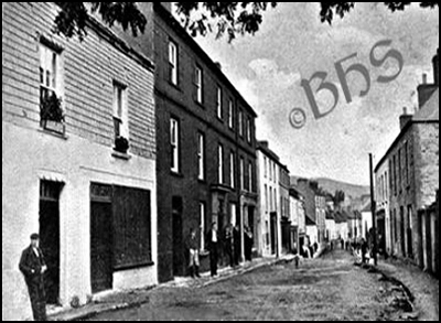
{"label": "group of people standing outside the dark three-storey townhouse", "polygon": [[[245,261],[252,260],[252,230],[244,227],[244,256]],[[239,266],[241,250],[241,235],[239,226],[233,224],[227,225],[223,233],[219,233],[217,224],[213,223],[211,229],[205,235],[206,250],[209,252],[209,267],[212,277],[217,276],[217,267],[219,262],[219,254],[225,255],[232,268]],[[191,229],[186,241],[190,262],[189,272],[193,278],[200,278],[200,252],[201,243],[196,229]],[[223,249],[223,250],[220,250]]]}

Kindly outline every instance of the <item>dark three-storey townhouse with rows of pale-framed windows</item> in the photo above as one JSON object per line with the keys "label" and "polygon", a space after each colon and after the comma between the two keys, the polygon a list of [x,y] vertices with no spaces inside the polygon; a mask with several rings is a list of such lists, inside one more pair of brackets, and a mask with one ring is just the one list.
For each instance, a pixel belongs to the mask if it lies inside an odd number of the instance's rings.
{"label": "dark three-storey townhouse with rows of pale-framed windows", "polygon": [[[245,226],[257,243],[254,109],[171,13],[171,2],[139,2],[146,33],[128,39],[155,64],[158,134],[158,273],[161,282],[187,273],[185,239],[201,237],[202,270],[209,269],[205,234]],[[240,239],[244,255],[244,239]]]}

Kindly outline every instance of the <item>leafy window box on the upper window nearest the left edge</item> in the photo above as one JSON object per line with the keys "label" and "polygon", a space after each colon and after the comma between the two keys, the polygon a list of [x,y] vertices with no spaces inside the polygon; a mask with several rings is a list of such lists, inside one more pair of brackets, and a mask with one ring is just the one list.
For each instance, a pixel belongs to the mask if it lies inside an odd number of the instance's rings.
{"label": "leafy window box on the upper window nearest the left edge", "polygon": [[65,134],[62,99],[55,94],[46,95],[40,104],[41,126],[44,130]]}

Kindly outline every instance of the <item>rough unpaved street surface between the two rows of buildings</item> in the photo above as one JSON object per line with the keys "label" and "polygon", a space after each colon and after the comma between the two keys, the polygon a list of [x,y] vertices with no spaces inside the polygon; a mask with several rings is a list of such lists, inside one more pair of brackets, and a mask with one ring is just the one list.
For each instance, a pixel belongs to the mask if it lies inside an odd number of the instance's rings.
{"label": "rough unpaved street surface between the two rows of buildings", "polygon": [[[409,308],[397,286],[353,265],[348,252],[267,266],[208,287],[160,288],[137,309],[90,321],[390,321]],[[410,309],[408,309],[410,311]]]}

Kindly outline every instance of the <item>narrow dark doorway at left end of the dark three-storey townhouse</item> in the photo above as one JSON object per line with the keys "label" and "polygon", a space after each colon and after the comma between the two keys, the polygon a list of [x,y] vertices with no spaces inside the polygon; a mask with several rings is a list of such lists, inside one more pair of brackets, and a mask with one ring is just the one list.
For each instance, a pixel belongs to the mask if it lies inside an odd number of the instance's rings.
{"label": "narrow dark doorway at left end of the dark three-storey townhouse", "polygon": [[182,197],[172,198],[173,217],[173,276],[184,276],[184,248],[182,227],[183,201]]}

